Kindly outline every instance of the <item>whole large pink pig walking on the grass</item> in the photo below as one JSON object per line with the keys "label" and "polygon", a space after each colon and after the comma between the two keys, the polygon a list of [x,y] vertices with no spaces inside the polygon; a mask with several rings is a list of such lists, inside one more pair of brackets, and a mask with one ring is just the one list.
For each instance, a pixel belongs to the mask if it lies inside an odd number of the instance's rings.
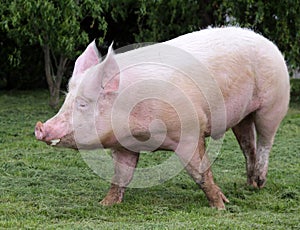
{"label": "whole large pink pig walking on the grass", "polygon": [[247,183],[266,183],[269,153],[288,110],[289,74],[275,44],[244,28],[209,28],[115,54],[92,42],[78,57],[61,109],[35,136],[52,146],[112,150],[102,205],[123,200],[140,152],[171,150],[211,207],[229,202],[214,182],[205,138],[228,129],[245,156]]}

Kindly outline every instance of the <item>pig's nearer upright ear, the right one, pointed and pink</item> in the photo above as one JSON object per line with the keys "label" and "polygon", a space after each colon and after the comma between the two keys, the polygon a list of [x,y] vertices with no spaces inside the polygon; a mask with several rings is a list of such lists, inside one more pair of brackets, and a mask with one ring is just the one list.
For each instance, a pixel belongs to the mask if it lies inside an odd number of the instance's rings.
{"label": "pig's nearer upright ear, the right one, pointed and pink", "polygon": [[106,58],[103,61],[101,87],[104,89],[104,92],[116,92],[120,84],[120,69],[112,46],[113,43],[108,48]]}

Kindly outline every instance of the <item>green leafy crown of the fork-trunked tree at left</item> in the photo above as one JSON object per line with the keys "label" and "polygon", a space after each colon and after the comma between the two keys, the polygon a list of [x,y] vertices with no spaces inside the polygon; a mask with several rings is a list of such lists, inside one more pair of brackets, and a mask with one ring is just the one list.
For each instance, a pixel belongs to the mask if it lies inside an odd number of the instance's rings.
{"label": "green leafy crown of the fork-trunked tree at left", "polygon": [[[5,9],[2,27],[20,46],[47,45],[54,55],[71,59],[78,55],[78,48],[89,41],[87,32],[81,28],[85,18],[92,18],[90,27],[97,25],[104,35],[107,29],[103,17],[107,1],[104,0],[97,4],[89,0],[13,0],[1,5]],[[103,37],[100,39],[103,41]]]}

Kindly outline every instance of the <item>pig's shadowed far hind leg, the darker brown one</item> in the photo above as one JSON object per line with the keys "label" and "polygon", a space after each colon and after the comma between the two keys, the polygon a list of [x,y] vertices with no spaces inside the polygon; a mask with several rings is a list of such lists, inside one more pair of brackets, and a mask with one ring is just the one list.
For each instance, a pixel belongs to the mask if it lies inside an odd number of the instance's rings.
{"label": "pig's shadowed far hind leg, the darker brown one", "polygon": [[253,115],[245,117],[232,128],[232,131],[246,158],[247,183],[253,185],[256,163],[256,131]]}

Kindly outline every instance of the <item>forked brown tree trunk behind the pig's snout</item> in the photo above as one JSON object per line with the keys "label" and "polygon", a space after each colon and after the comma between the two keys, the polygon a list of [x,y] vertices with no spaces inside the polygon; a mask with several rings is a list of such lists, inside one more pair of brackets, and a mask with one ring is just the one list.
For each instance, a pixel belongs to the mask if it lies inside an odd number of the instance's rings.
{"label": "forked brown tree trunk behind the pig's snout", "polygon": [[50,48],[48,45],[43,47],[44,50],[44,60],[45,60],[45,74],[50,91],[50,102],[49,105],[56,109],[59,104],[59,93],[61,81],[66,69],[66,64],[68,59],[60,56],[59,63],[55,63],[55,69],[57,70],[56,74],[54,73],[51,57],[50,57]]}

